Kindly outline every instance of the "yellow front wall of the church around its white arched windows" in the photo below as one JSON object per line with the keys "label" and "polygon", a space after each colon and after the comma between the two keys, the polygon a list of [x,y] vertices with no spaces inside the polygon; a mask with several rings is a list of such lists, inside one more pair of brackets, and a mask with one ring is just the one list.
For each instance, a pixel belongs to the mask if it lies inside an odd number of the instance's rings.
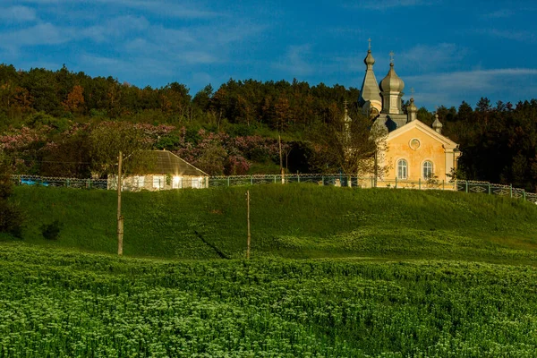
{"label": "yellow front wall of the church around its white arched windows", "polygon": [[[418,149],[412,149],[410,142],[413,139],[420,141]],[[450,163],[453,163],[452,154],[446,155],[446,150],[442,143],[432,138],[430,134],[422,132],[419,128],[413,128],[408,132],[398,135],[396,138],[388,139],[388,152],[385,155],[384,164],[388,166],[388,180],[395,180],[397,174],[397,161],[405,159],[407,166],[407,181],[417,182],[423,178],[423,162],[432,162],[433,175],[441,180],[449,180],[446,174],[451,170]],[[448,157],[448,158],[447,158]],[[449,166],[446,168],[446,166]],[[397,179],[399,180],[399,179]]]}

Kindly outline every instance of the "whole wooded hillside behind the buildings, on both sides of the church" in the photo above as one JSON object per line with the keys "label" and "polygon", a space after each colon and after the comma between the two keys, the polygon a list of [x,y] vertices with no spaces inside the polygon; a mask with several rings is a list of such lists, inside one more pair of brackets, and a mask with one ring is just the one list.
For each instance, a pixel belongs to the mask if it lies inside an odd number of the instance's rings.
{"label": "whole wooded hillside behind the buildings, on both sides of the church", "polygon": [[[339,170],[321,165],[320,132],[355,121],[359,90],[303,81],[183,84],[138,88],[109,76],[0,64],[0,154],[13,174],[106,176],[118,150],[168,149],[209,175],[277,173],[278,136],[287,172]],[[460,144],[459,178],[512,183],[537,191],[537,100],[488,98],[439,107],[443,134]],[[422,107],[418,119],[431,124]]]}

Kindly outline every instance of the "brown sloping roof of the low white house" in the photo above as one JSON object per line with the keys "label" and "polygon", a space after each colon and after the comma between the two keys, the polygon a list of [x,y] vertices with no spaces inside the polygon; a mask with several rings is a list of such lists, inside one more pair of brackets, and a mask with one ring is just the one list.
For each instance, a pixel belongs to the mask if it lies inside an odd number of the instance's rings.
{"label": "brown sloping roof of the low white house", "polygon": [[151,174],[209,176],[168,150],[142,150],[141,156]]}

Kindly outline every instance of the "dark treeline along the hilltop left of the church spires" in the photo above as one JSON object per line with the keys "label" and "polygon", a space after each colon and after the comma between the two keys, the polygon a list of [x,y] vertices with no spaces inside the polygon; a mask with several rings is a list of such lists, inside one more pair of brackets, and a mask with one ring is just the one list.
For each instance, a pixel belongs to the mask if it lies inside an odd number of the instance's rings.
{"label": "dark treeline along the hilltop left of the church spires", "polygon": [[17,71],[0,65],[0,118],[4,124],[30,113],[55,117],[107,117],[158,124],[224,123],[266,125],[277,131],[299,130],[343,115],[345,100],[358,90],[306,82],[229,80],[214,91],[208,85],[193,98],[173,82],[159,89],[140,89],[112,77],[91,78],[67,68]]}

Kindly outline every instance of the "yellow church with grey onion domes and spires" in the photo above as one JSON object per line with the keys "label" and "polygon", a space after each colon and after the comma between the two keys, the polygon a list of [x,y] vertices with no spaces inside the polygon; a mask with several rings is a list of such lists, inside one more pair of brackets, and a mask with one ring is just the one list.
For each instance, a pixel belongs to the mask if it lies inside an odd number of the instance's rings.
{"label": "yellow church with grey onion domes and spires", "polygon": [[427,187],[442,185],[453,187],[451,177],[457,159],[462,155],[458,144],[442,135],[438,114],[432,128],[417,119],[418,108],[414,99],[404,111],[405,82],[397,76],[393,53],[388,74],[380,83],[373,72],[375,59],[369,50],[363,60],[366,69],[358,98],[362,114],[373,121],[373,126],[385,132],[384,145],[377,155],[377,166],[384,168],[375,178],[375,186]]}

